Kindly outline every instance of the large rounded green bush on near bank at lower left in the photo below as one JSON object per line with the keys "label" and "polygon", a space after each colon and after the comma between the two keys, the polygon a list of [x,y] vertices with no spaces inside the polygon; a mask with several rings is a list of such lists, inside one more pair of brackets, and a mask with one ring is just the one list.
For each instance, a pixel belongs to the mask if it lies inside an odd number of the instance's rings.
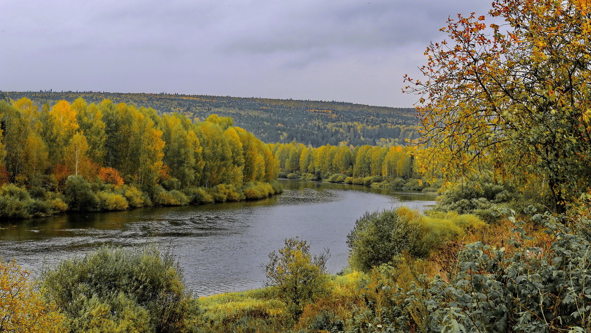
{"label": "large rounded green bush on near bank at lower left", "polygon": [[182,332],[191,296],[170,253],[100,248],[42,273],[42,289],[73,332]]}

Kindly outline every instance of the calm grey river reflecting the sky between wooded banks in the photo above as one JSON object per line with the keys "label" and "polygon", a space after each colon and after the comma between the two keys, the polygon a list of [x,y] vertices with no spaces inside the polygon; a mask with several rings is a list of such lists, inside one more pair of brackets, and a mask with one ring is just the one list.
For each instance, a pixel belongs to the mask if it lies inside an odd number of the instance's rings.
{"label": "calm grey river reflecting the sky between wooded banks", "polygon": [[0,222],[0,257],[34,273],[44,264],[110,244],[171,247],[188,289],[199,296],[261,287],[261,264],[285,238],[330,250],[327,268],[347,264],[346,236],[366,211],[407,205],[423,210],[435,196],[359,185],[280,180],[281,195],[260,201],[64,214]]}

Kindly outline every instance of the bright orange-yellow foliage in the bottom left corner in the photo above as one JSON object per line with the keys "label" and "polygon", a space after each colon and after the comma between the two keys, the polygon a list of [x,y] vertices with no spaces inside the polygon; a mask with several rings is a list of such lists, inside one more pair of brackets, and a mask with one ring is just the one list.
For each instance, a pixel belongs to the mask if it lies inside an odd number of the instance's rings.
{"label": "bright orange-yellow foliage in the bottom left corner", "polygon": [[63,332],[64,316],[35,290],[30,273],[0,259],[0,331]]}

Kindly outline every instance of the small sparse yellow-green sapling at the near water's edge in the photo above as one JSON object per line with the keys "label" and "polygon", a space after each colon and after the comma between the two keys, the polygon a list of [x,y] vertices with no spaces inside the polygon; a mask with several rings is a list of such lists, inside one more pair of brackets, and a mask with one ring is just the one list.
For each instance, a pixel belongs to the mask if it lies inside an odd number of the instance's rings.
{"label": "small sparse yellow-green sapling at the near water's edge", "polygon": [[267,286],[274,286],[277,297],[287,306],[294,320],[303,312],[304,305],[326,295],[329,279],[326,261],[329,253],[310,254],[310,245],[299,238],[288,238],[285,246],[269,254],[264,266]]}

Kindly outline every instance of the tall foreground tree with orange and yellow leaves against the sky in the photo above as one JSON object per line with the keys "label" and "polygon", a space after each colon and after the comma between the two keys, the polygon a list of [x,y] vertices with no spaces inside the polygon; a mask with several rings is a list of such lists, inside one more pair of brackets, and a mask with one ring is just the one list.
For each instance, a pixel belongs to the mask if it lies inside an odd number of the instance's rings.
{"label": "tall foreground tree with orange and yellow leaves against the sky", "polygon": [[448,179],[482,172],[542,177],[554,211],[589,196],[591,7],[579,0],[496,0],[458,15],[431,44],[421,95],[421,161]]}

